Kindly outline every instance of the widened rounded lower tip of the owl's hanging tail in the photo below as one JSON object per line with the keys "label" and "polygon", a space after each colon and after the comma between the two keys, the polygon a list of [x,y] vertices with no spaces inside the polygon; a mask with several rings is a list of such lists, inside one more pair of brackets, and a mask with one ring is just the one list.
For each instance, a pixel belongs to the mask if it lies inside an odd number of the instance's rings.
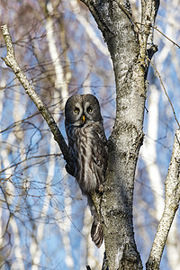
{"label": "widened rounded lower tip of the owl's hanging tail", "polygon": [[103,229],[99,220],[94,220],[92,224],[91,238],[96,247],[101,247],[103,243]]}

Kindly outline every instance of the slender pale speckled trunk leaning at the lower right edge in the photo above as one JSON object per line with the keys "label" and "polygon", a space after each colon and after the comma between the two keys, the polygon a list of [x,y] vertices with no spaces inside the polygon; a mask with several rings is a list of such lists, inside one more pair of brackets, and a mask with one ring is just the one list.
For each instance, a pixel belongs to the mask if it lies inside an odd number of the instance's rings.
{"label": "slender pale speckled trunk leaning at the lower right edge", "polygon": [[158,224],[157,234],[148,257],[146,269],[159,269],[160,260],[166,244],[166,238],[175,218],[180,201],[180,130],[175,132],[172,157],[166,175],[165,208]]}

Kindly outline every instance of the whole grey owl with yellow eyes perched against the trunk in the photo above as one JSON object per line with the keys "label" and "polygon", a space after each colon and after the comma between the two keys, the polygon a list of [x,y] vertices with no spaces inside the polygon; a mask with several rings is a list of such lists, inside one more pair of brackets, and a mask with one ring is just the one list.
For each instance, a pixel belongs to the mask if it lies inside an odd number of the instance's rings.
{"label": "whole grey owl with yellow eyes perched against the trunk", "polygon": [[100,105],[93,94],[76,94],[65,105],[65,128],[72,160],[71,172],[94,216],[91,238],[97,247],[103,242],[103,229],[91,193],[101,192],[107,166],[107,139]]}

